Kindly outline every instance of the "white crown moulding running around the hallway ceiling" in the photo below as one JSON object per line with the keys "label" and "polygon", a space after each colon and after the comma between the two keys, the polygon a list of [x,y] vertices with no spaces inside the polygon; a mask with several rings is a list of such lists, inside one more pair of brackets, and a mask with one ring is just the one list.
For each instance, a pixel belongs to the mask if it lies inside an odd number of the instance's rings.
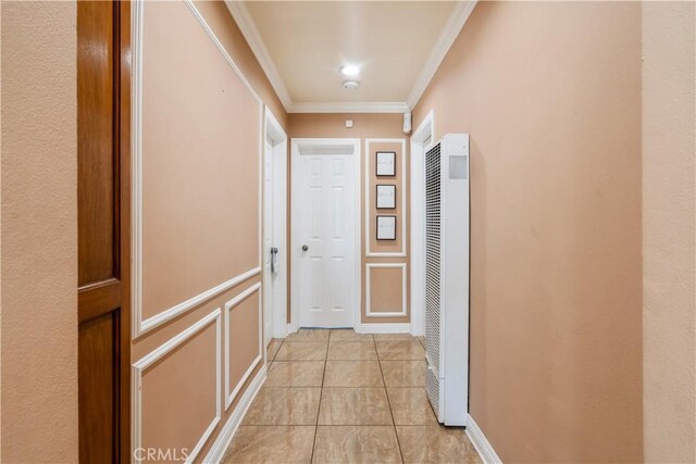
{"label": "white crown moulding running around the hallway ceiling", "polygon": [[261,68],[288,113],[406,113],[411,111],[423,96],[435,72],[471,15],[476,2],[477,0],[457,2],[406,102],[295,102],[290,98],[281,73],[275,67],[247,7],[243,1],[225,0],[227,10],[229,10],[232,17],[237,23],[239,30],[241,30],[241,35],[244,35],[249,48],[259,60]]}

